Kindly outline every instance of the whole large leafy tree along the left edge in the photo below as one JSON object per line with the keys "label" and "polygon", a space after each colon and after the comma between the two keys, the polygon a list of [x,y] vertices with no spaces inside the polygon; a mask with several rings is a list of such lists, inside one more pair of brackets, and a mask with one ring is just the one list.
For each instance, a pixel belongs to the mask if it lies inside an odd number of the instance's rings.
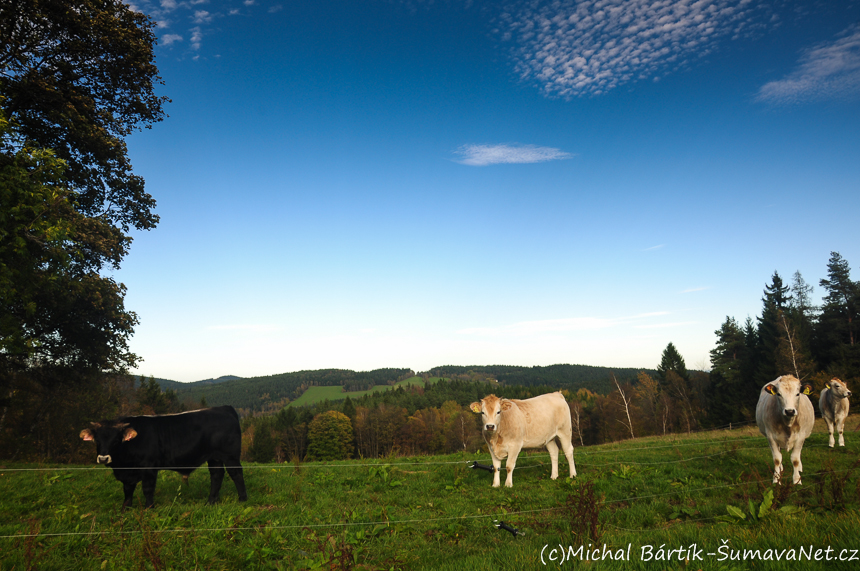
{"label": "whole large leafy tree along the left edge", "polygon": [[84,414],[68,395],[102,402],[102,375],[137,361],[137,317],[102,273],[158,222],[124,141],[164,117],[153,29],[120,0],[0,2],[0,434],[15,449],[62,454],[39,436],[52,407]]}

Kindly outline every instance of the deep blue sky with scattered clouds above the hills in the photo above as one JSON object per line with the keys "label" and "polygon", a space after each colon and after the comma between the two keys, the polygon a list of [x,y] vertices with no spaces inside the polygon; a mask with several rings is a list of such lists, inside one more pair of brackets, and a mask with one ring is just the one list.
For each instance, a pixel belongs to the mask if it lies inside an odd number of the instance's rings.
{"label": "deep blue sky with scattered clouds above the hills", "polygon": [[138,372],[707,367],[860,276],[860,3],[138,0]]}

